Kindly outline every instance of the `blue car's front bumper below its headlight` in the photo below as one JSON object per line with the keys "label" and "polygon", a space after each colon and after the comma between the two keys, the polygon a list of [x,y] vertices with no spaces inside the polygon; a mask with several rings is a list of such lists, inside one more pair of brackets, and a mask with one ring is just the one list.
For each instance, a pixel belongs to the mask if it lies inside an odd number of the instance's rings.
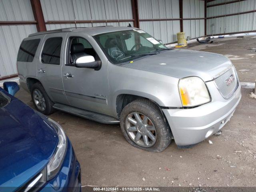
{"label": "blue car's front bumper below its headlight", "polygon": [[76,154],[68,139],[68,148],[62,168],[58,174],[46,182],[40,192],[81,192],[81,169]]}

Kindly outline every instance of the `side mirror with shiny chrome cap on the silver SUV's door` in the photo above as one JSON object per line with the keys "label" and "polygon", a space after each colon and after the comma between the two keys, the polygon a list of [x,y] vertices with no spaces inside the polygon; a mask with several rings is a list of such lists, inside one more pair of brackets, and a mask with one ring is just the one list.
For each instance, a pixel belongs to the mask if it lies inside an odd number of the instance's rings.
{"label": "side mirror with shiny chrome cap on the silver SUV's door", "polygon": [[77,58],[74,61],[74,65],[77,68],[90,68],[90,69],[99,70],[101,66],[101,61],[95,61],[93,56],[86,55],[86,56]]}

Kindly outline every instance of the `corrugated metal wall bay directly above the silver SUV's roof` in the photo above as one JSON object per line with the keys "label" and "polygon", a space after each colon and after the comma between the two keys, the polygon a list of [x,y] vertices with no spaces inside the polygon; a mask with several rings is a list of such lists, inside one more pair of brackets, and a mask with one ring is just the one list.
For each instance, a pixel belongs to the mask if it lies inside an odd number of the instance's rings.
{"label": "corrugated metal wall bay directly above the silver SUV's roof", "polygon": [[[40,0],[44,20],[74,20],[71,0]],[[132,18],[130,0],[73,0],[76,20],[128,20]],[[92,26],[133,26],[133,22],[79,23],[77,27]],[[74,24],[46,24],[47,30],[75,27]]]}

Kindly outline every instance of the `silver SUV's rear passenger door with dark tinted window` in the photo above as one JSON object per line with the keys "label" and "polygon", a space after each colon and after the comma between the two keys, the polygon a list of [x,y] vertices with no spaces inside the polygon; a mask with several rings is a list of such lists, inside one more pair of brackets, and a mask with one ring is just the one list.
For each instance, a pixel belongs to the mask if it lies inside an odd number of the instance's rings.
{"label": "silver SUV's rear passenger door with dark tinted window", "polygon": [[67,104],[62,84],[61,67],[66,33],[46,34],[37,64],[37,77],[54,102]]}

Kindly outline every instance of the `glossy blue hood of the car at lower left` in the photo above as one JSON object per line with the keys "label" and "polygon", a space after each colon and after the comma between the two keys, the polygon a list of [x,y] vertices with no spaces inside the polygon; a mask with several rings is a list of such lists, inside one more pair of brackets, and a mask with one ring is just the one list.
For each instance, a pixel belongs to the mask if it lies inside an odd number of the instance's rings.
{"label": "glossy blue hood of the car at lower left", "polygon": [[11,100],[0,108],[0,186],[15,189],[47,165],[58,135],[32,108],[1,91]]}

